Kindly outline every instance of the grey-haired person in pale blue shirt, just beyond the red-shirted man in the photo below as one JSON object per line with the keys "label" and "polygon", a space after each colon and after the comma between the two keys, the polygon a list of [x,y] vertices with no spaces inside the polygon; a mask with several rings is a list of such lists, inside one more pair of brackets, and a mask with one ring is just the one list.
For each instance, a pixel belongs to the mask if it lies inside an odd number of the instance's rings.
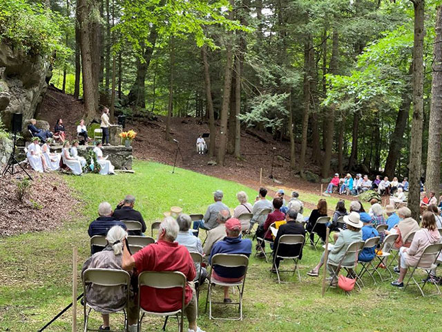
{"label": "grey-haired person in pale blue shirt, just beyond the red-shirted man", "polygon": [[[201,240],[199,237],[194,237],[190,230],[192,225],[191,217],[188,214],[180,214],[177,217],[177,223],[178,226],[180,226],[180,232],[178,232],[175,241],[177,241],[181,246],[186,247],[189,252],[198,252],[202,255],[203,252]],[[194,281],[198,281],[199,285],[201,285],[207,277],[206,268],[201,268],[200,275],[200,263],[195,263],[195,271],[196,277]]]}

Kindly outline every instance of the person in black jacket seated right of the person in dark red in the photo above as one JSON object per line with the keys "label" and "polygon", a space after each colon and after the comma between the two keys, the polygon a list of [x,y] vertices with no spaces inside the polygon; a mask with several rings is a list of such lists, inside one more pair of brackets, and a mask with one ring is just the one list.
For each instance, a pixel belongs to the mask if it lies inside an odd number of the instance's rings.
{"label": "person in black jacket seated right of the person in dark red", "polygon": [[[278,228],[278,233],[276,234],[275,241],[273,243],[273,266],[272,266],[272,272],[275,271],[276,268],[279,268],[281,258],[276,258],[276,248],[278,248],[278,243],[282,235],[304,235],[305,236],[305,228],[302,223],[298,222],[298,213],[295,212],[295,210],[288,210],[287,214],[285,215],[285,221],[286,223],[280,225]],[[302,246],[296,245],[296,246],[287,246],[285,244],[281,244],[279,246],[278,250],[279,256],[285,256],[285,257],[294,257],[299,255],[299,259],[302,259]]]}

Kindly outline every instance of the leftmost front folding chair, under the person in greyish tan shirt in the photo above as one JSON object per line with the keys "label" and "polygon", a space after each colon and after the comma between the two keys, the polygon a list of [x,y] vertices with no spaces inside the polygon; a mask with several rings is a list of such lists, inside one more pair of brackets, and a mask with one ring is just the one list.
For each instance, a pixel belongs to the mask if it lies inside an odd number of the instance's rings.
{"label": "leftmost front folding chair, under the person in greyish tan shirt", "polygon": [[[115,286],[125,286],[126,287],[126,304],[122,310],[124,313],[124,330],[127,331],[128,322],[127,322],[127,313],[126,308],[128,306],[129,301],[129,287],[131,285],[131,276],[124,270],[112,270],[109,268],[88,268],[83,273],[83,313],[84,313],[84,332],[87,331],[100,331],[98,329],[88,329],[88,320],[89,314],[92,310],[90,304],[88,304],[87,292],[86,292],[86,284],[95,284],[97,286],[102,287],[115,287]],[[86,308],[88,307],[88,310]],[[112,310],[112,309],[111,309]],[[111,330],[116,332],[115,330]]]}

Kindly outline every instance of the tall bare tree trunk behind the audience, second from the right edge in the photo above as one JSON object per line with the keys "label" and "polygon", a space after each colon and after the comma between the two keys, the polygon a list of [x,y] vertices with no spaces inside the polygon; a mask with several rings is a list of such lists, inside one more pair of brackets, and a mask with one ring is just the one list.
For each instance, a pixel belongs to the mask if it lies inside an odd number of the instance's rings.
{"label": "tall bare tree trunk behind the audience, second from the right edge", "polygon": [[421,161],[423,129],[423,37],[424,0],[414,0],[414,47],[413,47],[413,121],[410,142],[410,191],[408,208],[412,217],[419,220],[421,201]]}

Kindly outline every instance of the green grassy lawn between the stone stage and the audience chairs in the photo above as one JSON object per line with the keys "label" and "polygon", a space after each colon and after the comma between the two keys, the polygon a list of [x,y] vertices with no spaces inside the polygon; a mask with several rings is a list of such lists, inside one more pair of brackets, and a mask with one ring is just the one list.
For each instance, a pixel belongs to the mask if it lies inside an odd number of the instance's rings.
{"label": "green grassy lawn between the stone stage and the audience chairs", "polygon": [[[239,190],[246,191],[252,201],[256,196],[254,190],[237,183],[184,169],[171,174],[171,167],[157,163],[137,161],[134,169],[135,174],[117,176],[64,176],[83,202],[79,209],[66,207],[73,210],[73,222],[54,232],[0,239],[0,331],[37,331],[70,303],[72,248],[79,249],[81,268],[89,253],[88,224],[95,219],[101,201],[116,205],[124,195],[134,194],[135,208],[150,225],[173,205],[182,206],[186,213],[204,213],[212,202],[211,193],[217,189],[224,191],[224,203],[231,208],[238,204],[235,194]],[[307,197],[311,203],[320,198],[301,194],[302,200]],[[327,201],[336,204],[334,198]],[[200,236],[204,237],[202,233]],[[321,253],[320,248],[317,251],[305,248],[300,262],[302,282],[297,277],[284,276],[289,281],[287,284],[277,284],[276,277],[269,273],[270,265],[251,257],[244,293],[244,320],[210,321],[204,313],[204,286],[200,293],[199,325],[206,331],[439,331],[440,297],[423,298],[415,287],[401,291],[392,288],[389,282],[378,280],[373,286],[365,279],[366,286],[361,292],[347,296],[340,290],[331,290],[321,297],[321,277],[306,275]],[[434,293],[434,286],[425,288]],[[78,312],[81,326],[81,307]],[[218,308],[215,313],[222,315],[233,310]],[[94,317],[91,327],[98,327],[98,316]],[[46,331],[70,331],[70,320],[68,312]],[[111,316],[114,327],[119,322],[120,317]],[[157,318],[144,322],[143,331],[160,331],[162,326],[162,320]],[[175,320],[170,320],[167,331],[175,329]]]}

